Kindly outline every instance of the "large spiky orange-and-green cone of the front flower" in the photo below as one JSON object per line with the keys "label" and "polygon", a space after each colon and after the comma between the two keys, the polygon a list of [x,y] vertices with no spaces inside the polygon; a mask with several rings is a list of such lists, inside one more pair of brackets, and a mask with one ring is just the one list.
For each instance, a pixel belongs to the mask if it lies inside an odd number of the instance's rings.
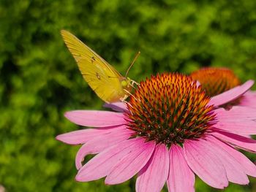
{"label": "large spiky orange-and-green cone of the front flower", "polygon": [[202,137],[214,124],[209,97],[191,77],[162,74],[140,82],[127,104],[128,128],[133,137],[182,145],[184,139]]}

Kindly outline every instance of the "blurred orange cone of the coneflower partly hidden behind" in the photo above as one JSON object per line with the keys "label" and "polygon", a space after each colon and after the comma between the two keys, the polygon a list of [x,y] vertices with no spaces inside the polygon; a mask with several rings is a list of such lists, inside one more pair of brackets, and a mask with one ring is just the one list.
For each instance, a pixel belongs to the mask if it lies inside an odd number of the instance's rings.
{"label": "blurred orange cone of the coneflower partly hidden behind", "polygon": [[203,68],[192,72],[190,76],[200,82],[208,96],[216,96],[241,83],[236,74],[226,68]]}

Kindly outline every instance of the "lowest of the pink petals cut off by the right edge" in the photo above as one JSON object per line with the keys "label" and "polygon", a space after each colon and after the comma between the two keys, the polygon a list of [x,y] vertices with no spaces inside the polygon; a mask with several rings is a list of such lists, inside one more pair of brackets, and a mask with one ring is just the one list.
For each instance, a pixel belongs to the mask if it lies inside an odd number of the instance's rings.
{"label": "lowest of the pink petals cut off by the right edge", "polygon": [[238,150],[234,149],[230,145],[225,144],[225,142],[219,141],[219,139],[215,137],[207,137],[207,140],[211,141],[214,145],[218,147],[222,147],[227,153],[233,156],[236,161],[243,166],[243,171],[246,174],[251,175],[252,177],[256,177],[256,166],[252,163],[243,153],[240,153]]}

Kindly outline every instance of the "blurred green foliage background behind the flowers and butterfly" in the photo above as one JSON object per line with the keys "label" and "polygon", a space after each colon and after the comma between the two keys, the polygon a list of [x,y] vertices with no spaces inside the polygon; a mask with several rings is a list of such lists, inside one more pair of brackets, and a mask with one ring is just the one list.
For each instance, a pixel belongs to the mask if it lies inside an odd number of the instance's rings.
{"label": "blurred green foliage background behind the flowers and butterfly", "polygon": [[[61,39],[67,29],[129,77],[227,66],[256,79],[256,1],[0,1],[0,184],[7,191],[135,191],[135,180],[75,182],[67,110],[102,109]],[[255,155],[249,155],[255,161]],[[230,185],[224,191],[256,191]],[[184,180],[186,182],[186,180]],[[196,190],[219,191],[197,178]],[[166,188],[163,190],[166,191]]]}

